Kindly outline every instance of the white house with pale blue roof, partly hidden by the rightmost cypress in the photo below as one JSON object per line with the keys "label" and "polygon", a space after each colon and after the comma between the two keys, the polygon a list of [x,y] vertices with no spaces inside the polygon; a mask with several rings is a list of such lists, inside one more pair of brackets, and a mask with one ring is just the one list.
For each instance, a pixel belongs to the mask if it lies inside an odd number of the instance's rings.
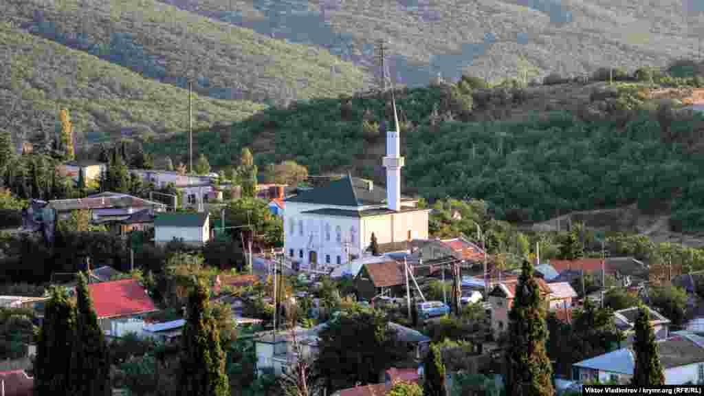
{"label": "white house with pale blue roof, partly hidden by the rightmost cypress", "polygon": [[[660,362],[665,369],[665,385],[704,383],[704,338],[687,332],[658,340]],[[624,347],[572,365],[574,380],[615,380],[626,384],[633,376],[632,347]]]}

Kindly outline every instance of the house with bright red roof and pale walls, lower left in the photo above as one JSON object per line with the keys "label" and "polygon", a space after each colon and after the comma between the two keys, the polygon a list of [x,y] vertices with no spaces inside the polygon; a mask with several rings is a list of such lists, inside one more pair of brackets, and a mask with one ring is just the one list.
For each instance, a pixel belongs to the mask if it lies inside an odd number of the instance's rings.
{"label": "house with bright red roof and pale walls, lower left", "polygon": [[134,279],[92,283],[88,292],[100,328],[114,337],[141,331],[144,315],[158,311],[149,293]]}

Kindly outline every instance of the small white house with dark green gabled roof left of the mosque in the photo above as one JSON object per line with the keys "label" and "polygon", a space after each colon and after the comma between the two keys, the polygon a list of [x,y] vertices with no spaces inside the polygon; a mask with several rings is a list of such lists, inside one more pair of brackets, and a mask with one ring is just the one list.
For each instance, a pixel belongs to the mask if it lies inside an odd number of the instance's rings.
{"label": "small white house with dark green gabled roof left of the mosque", "polygon": [[210,240],[210,214],[170,212],[156,216],[154,243],[165,245],[173,240],[199,247],[205,245]]}

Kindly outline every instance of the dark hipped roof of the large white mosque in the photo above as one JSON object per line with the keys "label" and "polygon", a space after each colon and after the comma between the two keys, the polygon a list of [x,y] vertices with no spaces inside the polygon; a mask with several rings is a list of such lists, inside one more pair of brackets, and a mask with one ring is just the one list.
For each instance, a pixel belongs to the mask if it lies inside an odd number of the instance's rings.
{"label": "dark hipped roof of the large white mosque", "polygon": [[[287,202],[335,206],[370,206],[386,204],[386,189],[360,178],[347,176],[333,180],[327,185],[312,190],[298,192],[298,195],[286,199]],[[408,197],[402,197],[408,200]]]}

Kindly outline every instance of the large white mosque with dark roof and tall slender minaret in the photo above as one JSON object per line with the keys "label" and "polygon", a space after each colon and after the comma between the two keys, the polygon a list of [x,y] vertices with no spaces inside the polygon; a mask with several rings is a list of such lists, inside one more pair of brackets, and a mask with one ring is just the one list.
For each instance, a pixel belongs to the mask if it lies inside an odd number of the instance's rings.
{"label": "large white mosque with dark roof and tall slender minaret", "polygon": [[311,268],[344,264],[365,254],[372,233],[379,245],[427,239],[429,210],[401,196],[400,139],[396,121],[396,130],[386,132],[386,189],[348,175],[284,201],[284,252],[290,260]]}

